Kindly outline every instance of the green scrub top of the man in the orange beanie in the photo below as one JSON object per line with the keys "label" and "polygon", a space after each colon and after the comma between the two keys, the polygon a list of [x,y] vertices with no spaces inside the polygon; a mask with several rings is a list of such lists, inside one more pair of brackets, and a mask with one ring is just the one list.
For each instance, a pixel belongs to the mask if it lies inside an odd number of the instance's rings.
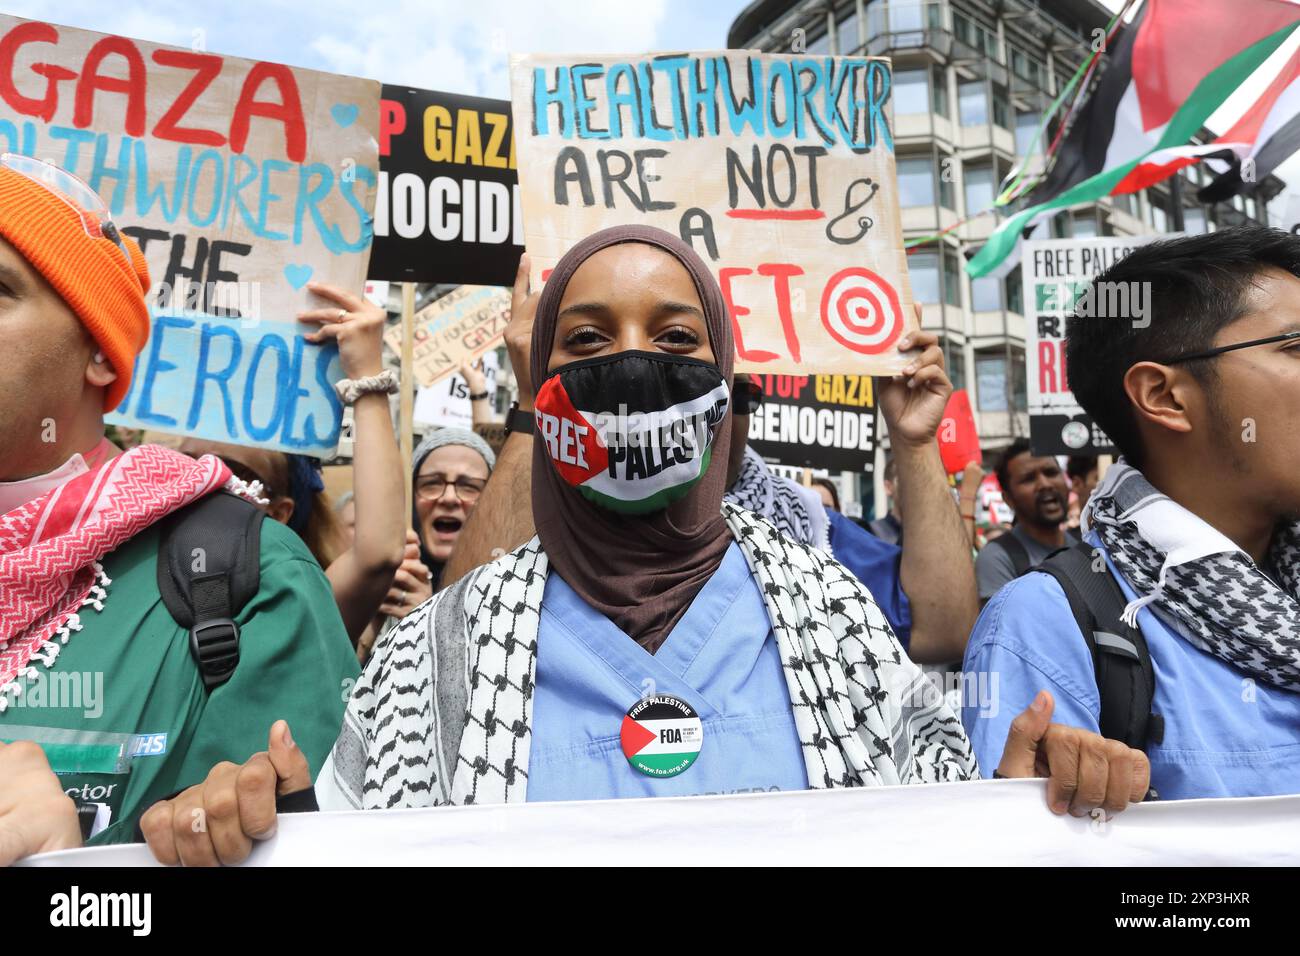
{"label": "green scrub top of the man in the orange beanie", "polygon": [[82,630],[53,666],[32,661],[38,676],[0,714],[0,740],[40,744],[64,791],[96,805],[92,845],[131,842],[153,803],[265,750],[280,718],[315,778],[359,672],[320,564],[266,519],[260,587],[235,617],[239,665],[209,693],[159,594],[157,549],[153,525],[104,558],[104,609],[81,609]]}

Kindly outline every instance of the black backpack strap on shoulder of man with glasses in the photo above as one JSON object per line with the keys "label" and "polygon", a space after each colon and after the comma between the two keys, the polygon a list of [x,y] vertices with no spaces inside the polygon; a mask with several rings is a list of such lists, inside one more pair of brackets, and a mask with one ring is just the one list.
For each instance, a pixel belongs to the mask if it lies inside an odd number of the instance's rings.
{"label": "black backpack strap on shoulder of man with glasses", "polygon": [[1156,670],[1141,630],[1121,620],[1124,594],[1092,545],[1062,548],[1036,571],[1052,575],[1092,653],[1101,698],[1101,736],[1145,750],[1165,736],[1165,724],[1152,713]]}

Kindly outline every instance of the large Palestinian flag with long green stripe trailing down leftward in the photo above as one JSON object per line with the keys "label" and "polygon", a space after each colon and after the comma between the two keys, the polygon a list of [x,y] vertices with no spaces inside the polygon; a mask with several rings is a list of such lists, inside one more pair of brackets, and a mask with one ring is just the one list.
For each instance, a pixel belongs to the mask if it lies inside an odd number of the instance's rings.
{"label": "large Palestinian flag with long green stripe trailing down leftward", "polygon": [[989,237],[967,273],[978,278],[994,271],[1023,230],[1058,209],[1144,189],[1180,159],[1225,150],[1191,139],[1297,25],[1300,7],[1286,0],[1147,0],[1106,55],[1097,87],[1030,194],[1034,206]]}

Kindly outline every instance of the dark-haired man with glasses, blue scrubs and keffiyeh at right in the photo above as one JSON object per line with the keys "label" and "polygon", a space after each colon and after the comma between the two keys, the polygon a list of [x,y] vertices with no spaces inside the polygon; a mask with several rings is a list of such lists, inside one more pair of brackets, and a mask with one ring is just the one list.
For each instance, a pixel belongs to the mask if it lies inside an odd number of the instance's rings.
{"label": "dark-haired man with glasses, blue scrubs and keffiyeh at right", "polygon": [[[1244,226],[1153,242],[1096,282],[1144,284],[1152,303],[1149,321],[1071,316],[1066,362],[1123,455],[1083,516],[1092,570],[1123,607],[1121,633],[1092,641],[1149,652],[1135,726],[1153,795],[1300,792],[1300,238]],[[962,714],[983,770],[1040,691],[1054,719],[1091,731],[1123,704],[1102,701],[1105,654],[1080,627],[1050,574],[989,601],[966,670],[997,680],[998,706]]]}

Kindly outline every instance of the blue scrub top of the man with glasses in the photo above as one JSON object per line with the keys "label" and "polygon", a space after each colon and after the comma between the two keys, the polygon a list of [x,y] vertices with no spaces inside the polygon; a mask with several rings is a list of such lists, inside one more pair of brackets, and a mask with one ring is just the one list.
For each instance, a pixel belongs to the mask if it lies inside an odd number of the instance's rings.
{"label": "blue scrub top of the man with glasses", "polygon": [[[1088,542],[1105,551],[1095,535]],[[1132,601],[1109,554],[1106,564]],[[1161,799],[1300,793],[1300,693],[1252,680],[1197,649],[1152,605],[1138,611],[1138,626],[1156,670],[1152,709],[1165,719],[1164,740],[1147,750]],[[1098,732],[1092,656],[1065,592],[1045,574],[1018,578],[988,602],[963,670],[971,692],[962,723],[985,777],[1001,760],[1011,719],[1039,691],[1056,698],[1053,722]]]}

